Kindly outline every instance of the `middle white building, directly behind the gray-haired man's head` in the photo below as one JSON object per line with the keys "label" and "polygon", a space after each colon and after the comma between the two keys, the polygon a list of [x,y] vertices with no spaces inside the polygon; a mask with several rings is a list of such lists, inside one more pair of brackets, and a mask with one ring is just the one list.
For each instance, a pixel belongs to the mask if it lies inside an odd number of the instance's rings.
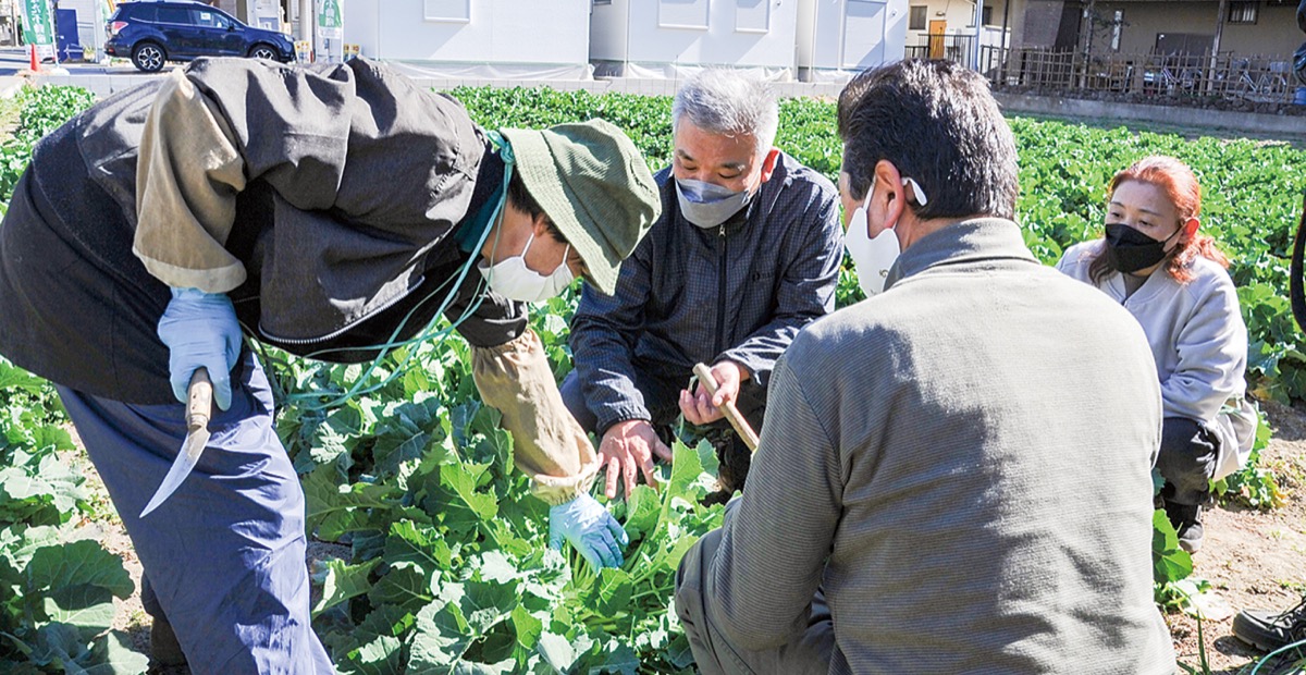
{"label": "middle white building, directly behind the gray-haired man's head", "polygon": [[799,0],[593,0],[599,74],[678,78],[729,65],[793,80]]}

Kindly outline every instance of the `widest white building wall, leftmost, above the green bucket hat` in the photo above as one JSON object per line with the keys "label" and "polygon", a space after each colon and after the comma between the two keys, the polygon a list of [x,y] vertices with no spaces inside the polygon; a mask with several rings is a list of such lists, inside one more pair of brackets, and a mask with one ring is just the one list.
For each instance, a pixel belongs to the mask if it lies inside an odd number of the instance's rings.
{"label": "widest white building wall, leftmost, above the green bucket hat", "polygon": [[346,0],[345,42],[381,59],[585,65],[589,7],[590,0]]}

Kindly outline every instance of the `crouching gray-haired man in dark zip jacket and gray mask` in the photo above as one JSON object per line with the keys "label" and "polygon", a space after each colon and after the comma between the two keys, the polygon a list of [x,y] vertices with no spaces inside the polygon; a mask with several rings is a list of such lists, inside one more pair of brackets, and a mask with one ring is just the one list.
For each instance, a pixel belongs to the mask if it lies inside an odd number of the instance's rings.
{"label": "crouching gray-haired man in dark zip jacket and gray mask", "polygon": [[[835,187],[773,148],[780,108],[771,87],[733,71],[690,78],[671,108],[674,154],[657,174],[662,215],[622,265],[616,291],[585,286],[572,322],[576,369],[563,400],[601,435],[609,499],[654,457],[658,427],[677,413],[720,424],[737,403],[760,427],[776,359],[835,307],[844,248]],[[687,385],[712,366],[717,394]],[[743,487],[748,450],[726,443],[722,487]]]}

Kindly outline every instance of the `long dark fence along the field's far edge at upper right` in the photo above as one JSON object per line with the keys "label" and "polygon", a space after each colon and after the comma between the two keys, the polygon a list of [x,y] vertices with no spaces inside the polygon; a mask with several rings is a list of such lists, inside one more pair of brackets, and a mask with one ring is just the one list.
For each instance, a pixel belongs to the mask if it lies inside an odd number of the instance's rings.
{"label": "long dark fence along the field's far edge at upper right", "polygon": [[982,72],[995,85],[1121,94],[1292,103],[1297,82],[1284,56],[1092,55],[1045,48],[982,47]]}

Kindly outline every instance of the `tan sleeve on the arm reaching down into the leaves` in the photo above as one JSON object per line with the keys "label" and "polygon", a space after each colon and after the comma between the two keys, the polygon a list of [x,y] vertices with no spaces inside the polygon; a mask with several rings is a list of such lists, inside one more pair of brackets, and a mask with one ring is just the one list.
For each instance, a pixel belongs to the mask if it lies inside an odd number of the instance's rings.
{"label": "tan sleeve on the arm reaching down into the leaves", "polygon": [[475,347],[471,373],[481,398],[503,413],[517,469],[532,478],[532,492],[550,505],[588,492],[598,456],[563,405],[539,337],[528,330],[498,347]]}

